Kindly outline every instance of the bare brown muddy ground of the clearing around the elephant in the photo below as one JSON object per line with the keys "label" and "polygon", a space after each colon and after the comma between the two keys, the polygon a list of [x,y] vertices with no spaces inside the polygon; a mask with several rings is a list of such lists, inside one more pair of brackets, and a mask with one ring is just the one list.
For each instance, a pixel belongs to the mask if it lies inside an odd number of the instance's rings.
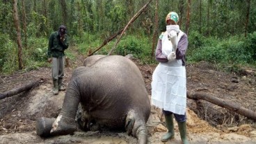
{"label": "bare brown muddy ground of the clearing around the elephant", "polygon": [[[133,60],[143,74],[147,91],[151,93],[150,82],[156,65],[141,64]],[[65,84],[73,69],[81,66],[83,57],[71,60],[65,68]],[[247,69],[248,70],[248,69]],[[187,89],[210,93],[223,101],[256,111],[255,70],[242,73],[225,73],[216,66],[200,62],[186,66]],[[42,116],[56,118],[61,109],[65,91],[57,96],[51,94],[51,68],[1,75],[0,93],[40,80],[31,91],[0,100],[0,143],[136,143],[137,139],[125,132],[82,132],[77,129],[72,135],[41,138],[35,132],[35,120]],[[234,113],[205,100],[187,98],[187,132],[190,143],[256,143],[256,121]],[[147,121],[149,143],[161,143],[166,132],[161,112],[152,106]],[[167,143],[181,143],[177,123],[175,138]]]}

